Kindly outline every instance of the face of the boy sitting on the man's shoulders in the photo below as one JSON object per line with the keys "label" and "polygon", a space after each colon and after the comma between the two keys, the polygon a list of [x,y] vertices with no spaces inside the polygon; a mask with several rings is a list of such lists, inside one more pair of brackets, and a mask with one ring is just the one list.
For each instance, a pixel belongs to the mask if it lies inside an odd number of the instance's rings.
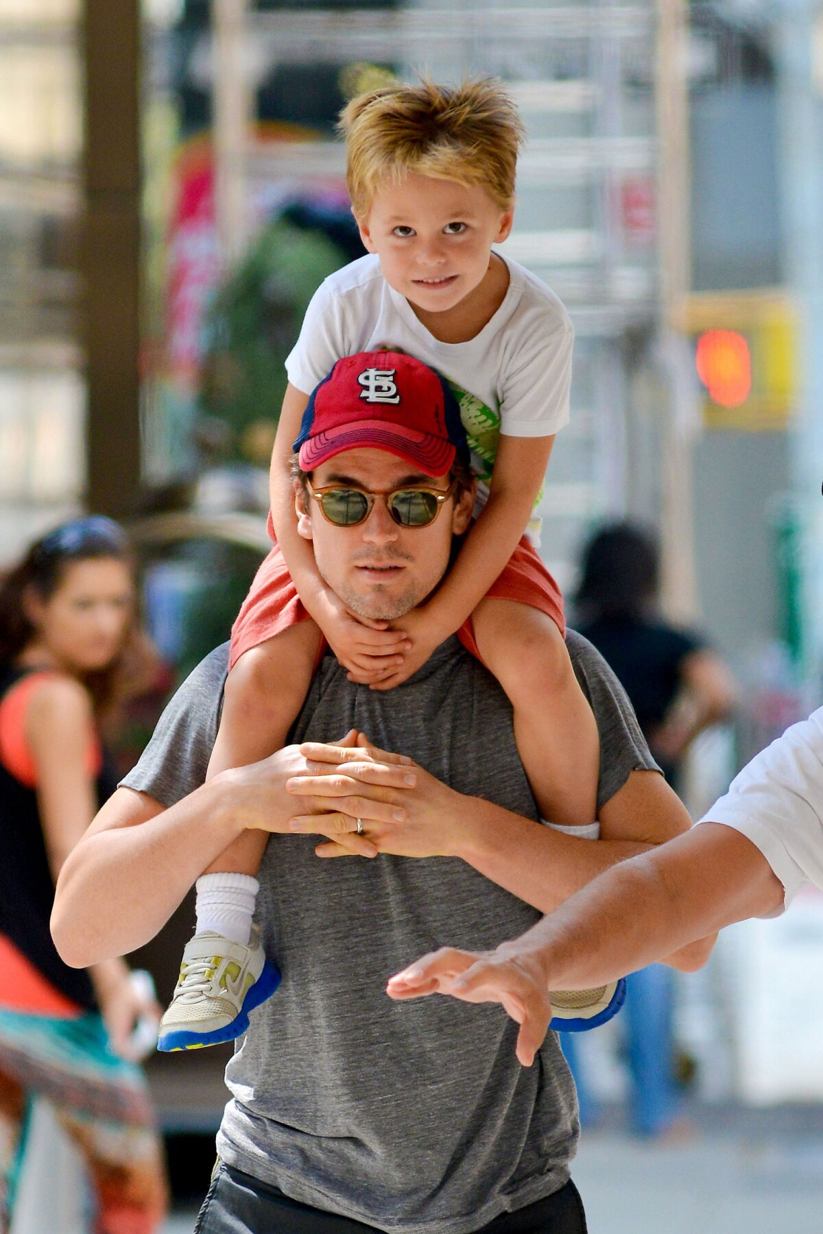
{"label": "face of the boy sitting on the man's shoulders", "polygon": [[380,189],[358,222],[386,283],[426,312],[445,312],[481,284],[513,213],[481,185],[410,174]]}

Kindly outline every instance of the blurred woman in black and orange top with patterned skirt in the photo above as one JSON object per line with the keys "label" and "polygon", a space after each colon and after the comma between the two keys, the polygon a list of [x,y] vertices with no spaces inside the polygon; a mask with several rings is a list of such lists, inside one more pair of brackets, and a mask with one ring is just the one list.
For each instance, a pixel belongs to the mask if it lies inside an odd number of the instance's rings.
{"label": "blurred woman in black and orange top with patterned skirt", "polygon": [[100,734],[157,663],[133,560],[109,518],[65,523],[0,584],[0,1230],[30,1102],[80,1150],[99,1234],[151,1234],[167,1206],[133,1032],[159,1008],[121,959],[70,969],[49,933],[59,869],[116,786]]}

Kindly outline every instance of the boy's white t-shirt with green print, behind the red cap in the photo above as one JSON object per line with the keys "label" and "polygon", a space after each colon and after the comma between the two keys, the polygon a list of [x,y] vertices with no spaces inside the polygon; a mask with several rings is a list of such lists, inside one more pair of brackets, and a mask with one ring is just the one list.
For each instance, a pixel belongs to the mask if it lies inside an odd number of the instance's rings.
{"label": "boy's white t-shirt with green print, behind the red cap", "polygon": [[480,480],[487,482],[500,433],[550,437],[569,421],[574,329],[544,283],[516,262],[500,308],[468,343],[440,343],[389,286],[374,254],[329,275],[312,296],[286,360],[304,394],[336,360],[381,348],[407,352],[452,385]]}

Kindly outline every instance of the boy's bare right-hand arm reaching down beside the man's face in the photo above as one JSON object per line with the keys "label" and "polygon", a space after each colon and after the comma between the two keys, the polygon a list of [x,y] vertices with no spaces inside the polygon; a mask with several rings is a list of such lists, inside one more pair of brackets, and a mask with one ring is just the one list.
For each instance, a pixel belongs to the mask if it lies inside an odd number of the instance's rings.
{"label": "boy's bare right-hand arm reaching down beside the man's face", "polygon": [[402,618],[411,650],[375,689],[391,690],[410,677],[478,607],[528,526],[553,445],[554,437],[501,436],[489,500],[443,585]]}

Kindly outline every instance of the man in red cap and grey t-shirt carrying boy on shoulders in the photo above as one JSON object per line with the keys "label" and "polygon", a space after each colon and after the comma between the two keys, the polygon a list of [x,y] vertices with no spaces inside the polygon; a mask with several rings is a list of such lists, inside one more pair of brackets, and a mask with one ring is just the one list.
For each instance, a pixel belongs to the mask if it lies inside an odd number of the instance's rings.
{"label": "man in red cap and grey t-shirt carrying boy on shoulders", "polygon": [[[415,463],[397,408],[384,404],[353,418],[342,445],[337,437],[316,450],[311,474],[295,481],[301,536],[328,586],[364,616],[375,597],[395,617],[424,602],[471,517],[474,482],[443,408],[421,401],[413,380],[401,395],[418,399],[418,424],[447,474],[432,479]],[[313,447],[332,441],[328,427],[316,415]],[[337,496],[325,510],[316,499],[329,486]],[[433,489],[437,517],[395,521],[397,489]],[[368,506],[364,517],[339,526],[355,502]],[[226,675],[218,649],[69,856],[53,933],[79,966],[153,937],[243,828],[273,835],[257,919],[283,985],[253,1012],[227,1069],[232,1101],[201,1234],[585,1230],[569,1180],[576,1102],[554,1034],[524,1072],[495,1011],[445,1000],[397,1007],[384,993],[391,971],[447,934],[496,945],[612,863],[689,826],[617,681],[585,640],[569,645],[601,739],[597,840],[539,824],[511,707],[452,638],[391,692],[349,682],[327,656],[292,734],[321,744],[204,784]],[[322,744],[347,731],[342,744]],[[352,731],[415,763],[353,749]],[[371,860],[317,861],[305,833],[327,838],[321,855]]]}

